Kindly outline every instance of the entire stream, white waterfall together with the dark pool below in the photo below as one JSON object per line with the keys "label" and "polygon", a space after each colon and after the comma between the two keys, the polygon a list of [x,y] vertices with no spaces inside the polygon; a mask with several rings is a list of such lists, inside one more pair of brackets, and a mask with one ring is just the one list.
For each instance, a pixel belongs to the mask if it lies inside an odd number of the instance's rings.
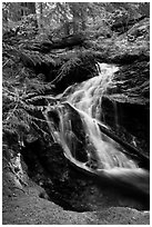
{"label": "entire stream, white waterfall together with the dark pool below", "polygon": [[[102,98],[114,88],[119,67],[99,63],[97,77],[69,87],[55,97],[58,102],[44,108],[53,142],[39,140],[26,146],[22,155],[28,174],[45,189],[50,200],[68,210],[115,206],[148,210],[150,174],[144,160],[149,159],[136,154],[136,145],[119,144],[112,134],[101,131],[111,131],[102,120]],[[116,126],[116,110],[113,115]]]}

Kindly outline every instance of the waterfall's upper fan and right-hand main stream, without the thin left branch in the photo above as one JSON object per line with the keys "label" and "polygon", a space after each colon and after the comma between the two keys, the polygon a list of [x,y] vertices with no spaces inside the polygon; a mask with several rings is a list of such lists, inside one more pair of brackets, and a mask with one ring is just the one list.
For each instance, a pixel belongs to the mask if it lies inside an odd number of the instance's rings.
{"label": "waterfall's upper fan and right-hand main stream, without the thin left branch", "polygon": [[[93,145],[94,156],[98,159],[98,168],[111,169],[114,167],[136,168],[136,164],[116,149],[116,144],[110,138],[103,140],[97,120],[102,112],[101,101],[103,93],[112,86],[112,79],[119,68],[99,63],[99,75],[75,87],[68,101],[77,108],[83,119],[83,127],[90,145]],[[95,120],[97,119],[97,120]]]}

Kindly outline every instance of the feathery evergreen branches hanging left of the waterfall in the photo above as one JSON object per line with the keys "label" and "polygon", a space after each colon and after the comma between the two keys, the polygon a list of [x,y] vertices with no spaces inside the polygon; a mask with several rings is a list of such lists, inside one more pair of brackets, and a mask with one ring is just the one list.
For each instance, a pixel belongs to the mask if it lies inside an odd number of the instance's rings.
{"label": "feathery evergreen branches hanging left of the waterfall", "polygon": [[[6,53],[7,52],[7,57]],[[43,76],[36,76],[17,58],[16,49],[3,47],[3,81],[2,81],[2,118],[3,138],[6,142],[16,138],[22,145],[26,135],[34,138],[45,136],[41,124],[41,115],[45,103],[44,93],[51,92],[51,85],[43,81]]]}

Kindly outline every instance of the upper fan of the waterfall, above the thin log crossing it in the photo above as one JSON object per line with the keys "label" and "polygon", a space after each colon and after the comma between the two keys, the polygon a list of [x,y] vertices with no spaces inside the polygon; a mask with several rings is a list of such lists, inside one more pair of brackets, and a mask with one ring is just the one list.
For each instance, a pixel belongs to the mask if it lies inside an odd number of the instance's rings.
{"label": "upper fan of the waterfall, above the thin log crossing it", "polygon": [[102,96],[112,85],[112,78],[118,67],[99,63],[99,75],[77,86],[68,101],[90,117],[100,119]]}

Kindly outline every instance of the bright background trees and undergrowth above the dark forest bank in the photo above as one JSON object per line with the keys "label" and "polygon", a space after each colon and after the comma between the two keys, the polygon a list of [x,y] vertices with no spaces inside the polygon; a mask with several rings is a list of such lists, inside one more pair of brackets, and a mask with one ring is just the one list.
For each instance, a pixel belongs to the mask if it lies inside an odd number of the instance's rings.
{"label": "bright background trees and undergrowth above the dark forest bank", "polygon": [[[6,29],[20,27],[22,33],[47,33],[52,39],[80,31],[112,36],[111,26],[149,17],[149,2],[3,2]],[[98,31],[99,30],[99,31]]]}

